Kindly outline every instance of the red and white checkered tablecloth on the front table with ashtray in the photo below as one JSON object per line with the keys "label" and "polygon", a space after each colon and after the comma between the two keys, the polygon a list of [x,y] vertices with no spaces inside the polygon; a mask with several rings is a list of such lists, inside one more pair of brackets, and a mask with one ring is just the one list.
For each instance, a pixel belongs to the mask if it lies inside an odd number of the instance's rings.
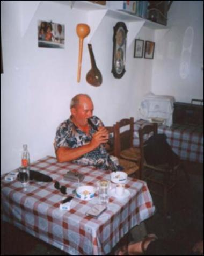
{"label": "red and white checkered tablecloth on the front table with ashtray", "polygon": [[24,191],[19,181],[5,181],[3,175],[1,217],[71,255],[105,255],[132,227],[154,214],[155,207],[147,184],[129,177],[126,189],[130,196],[123,200],[110,197],[107,210],[98,219],[85,215],[90,207],[99,203],[98,195],[90,201],[74,196],[71,210],[60,210],[63,194],[54,188],[54,182],[65,185],[67,195],[74,195],[72,191],[78,186],[63,180],[68,170],[76,169],[85,175],[80,185],[93,186],[98,180],[110,180],[110,173],[91,166],[57,163],[53,157],[40,159],[31,168],[49,175],[53,182],[30,182]]}

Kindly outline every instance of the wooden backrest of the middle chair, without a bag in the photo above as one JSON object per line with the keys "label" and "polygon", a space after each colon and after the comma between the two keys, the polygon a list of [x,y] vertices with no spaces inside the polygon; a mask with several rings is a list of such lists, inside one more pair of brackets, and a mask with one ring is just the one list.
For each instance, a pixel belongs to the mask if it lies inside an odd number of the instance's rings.
{"label": "wooden backrest of the middle chair, without a bag", "polygon": [[[125,129],[128,126],[128,129]],[[122,131],[124,127],[124,131]],[[126,127],[127,128],[127,127]],[[120,157],[121,150],[133,147],[134,118],[124,118],[114,125],[115,141],[116,141],[116,157]]]}

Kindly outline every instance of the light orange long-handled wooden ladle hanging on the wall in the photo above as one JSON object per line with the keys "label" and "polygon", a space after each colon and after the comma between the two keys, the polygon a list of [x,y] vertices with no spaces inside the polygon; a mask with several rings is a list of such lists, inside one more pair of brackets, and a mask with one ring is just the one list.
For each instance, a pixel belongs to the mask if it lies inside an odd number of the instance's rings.
{"label": "light orange long-handled wooden ladle hanging on the wall", "polygon": [[76,32],[79,37],[77,82],[80,82],[81,67],[82,67],[83,40],[90,33],[90,27],[87,24],[79,23],[79,24],[77,24]]}

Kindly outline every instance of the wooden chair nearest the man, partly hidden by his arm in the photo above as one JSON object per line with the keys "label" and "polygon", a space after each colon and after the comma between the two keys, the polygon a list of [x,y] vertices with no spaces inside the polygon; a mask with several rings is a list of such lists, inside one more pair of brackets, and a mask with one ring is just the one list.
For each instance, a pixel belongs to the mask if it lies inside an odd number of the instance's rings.
{"label": "wooden chair nearest the man, partly hidden by his arm", "polygon": [[[117,149],[118,144],[116,143],[116,140],[115,140],[115,125],[106,126],[106,129],[110,133],[110,143],[108,145],[107,151],[111,155],[116,156],[116,152],[118,151],[118,149]],[[118,160],[119,160],[119,165],[124,168],[123,172],[127,173],[127,175],[129,175],[129,176],[135,175],[138,172],[139,167],[136,165],[135,162],[128,161],[128,160],[121,159],[121,158],[118,158]]]}

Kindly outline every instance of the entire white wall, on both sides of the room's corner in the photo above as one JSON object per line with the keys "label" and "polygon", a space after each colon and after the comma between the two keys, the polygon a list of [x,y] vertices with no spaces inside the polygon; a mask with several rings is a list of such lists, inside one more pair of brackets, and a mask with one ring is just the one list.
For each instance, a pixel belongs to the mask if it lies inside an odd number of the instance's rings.
{"label": "entire white wall, on both sides of the room's corner", "polygon": [[[38,6],[38,3],[39,6]],[[31,16],[31,14],[34,16]],[[30,17],[33,17],[31,20]],[[87,40],[84,40],[81,82],[76,82],[78,37],[76,25],[87,23],[86,12],[52,1],[1,1],[1,33],[4,74],[1,74],[1,174],[20,165],[21,148],[28,144],[31,161],[54,155],[56,127],[70,115],[70,99],[88,93],[94,114],[105,125],[123,117],[138,117],[141,97],[152,90],[190,102],[203,97],[203,3],[174,1],[169,12],[169,30],[143,27],[137,38],[156,41],[154,60],[135,59],[134,42],[127,49],[122,79],[111,74],[113,26],[119,20],[105,17],[91,43],[103,84],[92,87],[85,75],[90,70]],[[38,48],[38,20],[65,25],[65,49]],[[193,27],[191,58],[181,69]],[[91,24],[90,24],[91,27]],[[185,42],[183,46],[183,41]],[[189,56],[188,56],[189,57]],[[154,65],[153,69],[152,66]],[[187,70],[187,73],[184,71]],[[153,72],[153,73],[152,73]]]}

